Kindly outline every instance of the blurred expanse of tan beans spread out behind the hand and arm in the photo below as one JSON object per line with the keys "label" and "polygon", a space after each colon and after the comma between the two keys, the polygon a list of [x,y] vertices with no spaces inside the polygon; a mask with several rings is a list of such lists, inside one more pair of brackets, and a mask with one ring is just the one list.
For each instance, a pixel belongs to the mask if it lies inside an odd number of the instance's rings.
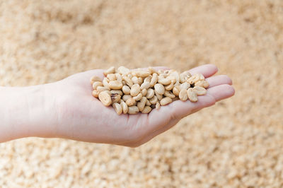
{"label": "blurred expanse of tan beans spread out behind the hand and arm", "polygon": [[216,64],[236,95],[139,148],[0,143],[0,187],[283,187],[282,0],[0,0],[0,85]]}

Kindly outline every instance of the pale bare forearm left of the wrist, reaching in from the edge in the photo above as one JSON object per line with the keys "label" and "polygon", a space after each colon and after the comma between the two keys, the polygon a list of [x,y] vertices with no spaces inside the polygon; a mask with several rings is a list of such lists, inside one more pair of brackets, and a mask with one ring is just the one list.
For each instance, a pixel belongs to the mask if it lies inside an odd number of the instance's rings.
{"label": "pale bare forearm left of the wrist, reaching in from the edge", "polygon": [[0,142],[52,136],[56,112],[54,98],[47,98],[46,87],[0,87]]}

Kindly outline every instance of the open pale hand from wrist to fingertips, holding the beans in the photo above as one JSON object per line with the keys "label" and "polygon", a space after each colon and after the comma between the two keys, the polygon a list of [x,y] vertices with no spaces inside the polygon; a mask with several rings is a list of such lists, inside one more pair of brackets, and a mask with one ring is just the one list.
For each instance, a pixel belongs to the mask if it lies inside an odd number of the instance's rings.
{"label": "open pale hand from wrist to fingertips, holding the beans", "polygon": [[[156,67],[155,69],[165,69]],[[209,107],[234,94],[228,76],[212,76],[217,72],[214,65],[207,64],[191,69],[201,73],[209,82],[207,94],[197,102],[176,100],[149,114],[121,114],[105,107],[91,95],[91,76],[103,78],[103,70],[86,71],[69,76],[56,83],[54,98],[57,102],[57,137],[96,143],[112,143],[136,147],[170,129],[183,117]]]}

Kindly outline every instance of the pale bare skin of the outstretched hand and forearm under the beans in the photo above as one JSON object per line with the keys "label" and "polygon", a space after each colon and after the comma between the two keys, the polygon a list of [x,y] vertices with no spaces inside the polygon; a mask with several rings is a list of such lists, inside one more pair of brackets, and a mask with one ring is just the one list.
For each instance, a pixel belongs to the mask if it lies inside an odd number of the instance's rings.
{"label": "pale bare skin of the outstretched hand and forearm under the beans", "polygon": [[101,69],[40,86],[0,87],[0,142],[36,136],[141,146],[183,117],[233,96],[231,78],[213,76],[217,70],[212,64],[190,70],[191,74],[203,74],[209,82],[207,94],[199,96],[198,102],[176,100],[149,114],[117,115],[112,107],[93,98],[90,78],[103,78]]}

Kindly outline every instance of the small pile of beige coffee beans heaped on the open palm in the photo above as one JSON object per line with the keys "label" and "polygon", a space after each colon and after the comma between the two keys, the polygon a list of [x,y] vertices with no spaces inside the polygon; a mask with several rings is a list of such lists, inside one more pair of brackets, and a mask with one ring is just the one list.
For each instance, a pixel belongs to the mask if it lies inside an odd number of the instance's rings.
{"label": "small pile of beige coffee beans heaped on the open palm", "polygon": [[179,74],[173,69],[130,70],[120,66],[116,70],[112,66],[103,74],[103,80],[91,78],[92,95],[103,105],[112,105],[117,114],[149,113],[174,100],[197,102],[197,95],[205,95],[209,86],[202,74]]}

